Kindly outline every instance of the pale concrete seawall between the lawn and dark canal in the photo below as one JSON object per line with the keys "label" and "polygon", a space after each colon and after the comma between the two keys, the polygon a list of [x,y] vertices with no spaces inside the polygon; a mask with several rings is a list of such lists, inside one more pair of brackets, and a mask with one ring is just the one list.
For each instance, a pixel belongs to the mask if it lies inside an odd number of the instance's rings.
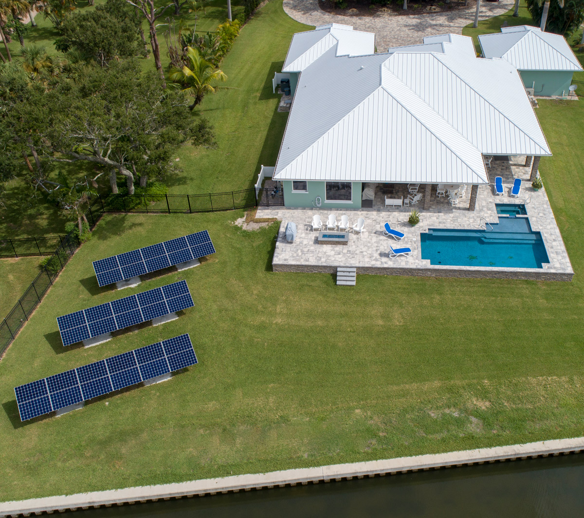
{"label": "pale concrete seawall between the lawn and dark canal", "polygon": [[233,475],[224,478],[209,478],[176,484],[140,486],[135,488],[115,489],[77,493],[68,496],[48,496],[17,502],[0,503],[0,517],[29,516],[30,514],[65,512],[67,510],[89,509],[90,507],[110,507],[112,505],[132,504],[136,502],[156,502],[172,498],[190,498],[192,496],[215,495],[217,493],[251,491],[252,489],[284,487],[297,484],[318,484],[319,482],[350,480],[354,477],[373,477],[376,475],[395,475],[409,471],[427,471],[463,465],[484,464],[485,462],[503,462],[536,457],[548,457],[580,453],[584,450],[584,437],[540,441],[538,443],[515,444],[480,448],[478,450],[454,451],[416,457],[399,457],[394,459],[355,462],[354,464],[333,464],[317,468],[287,469],[262,474]]}

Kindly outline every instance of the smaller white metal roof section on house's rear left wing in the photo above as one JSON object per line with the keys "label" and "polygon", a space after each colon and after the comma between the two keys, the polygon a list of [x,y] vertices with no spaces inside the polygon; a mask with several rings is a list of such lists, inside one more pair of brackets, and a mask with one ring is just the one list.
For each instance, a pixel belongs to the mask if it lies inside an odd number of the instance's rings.
{"label": "smaller white metal roof section on house's rear left wing", "polygon": [[353,30],[350,25],[329,23],[294,34],[283,72],[301,72],[327,50],[336,46],[337,56],[363,56],[375,51],[375,34]]}

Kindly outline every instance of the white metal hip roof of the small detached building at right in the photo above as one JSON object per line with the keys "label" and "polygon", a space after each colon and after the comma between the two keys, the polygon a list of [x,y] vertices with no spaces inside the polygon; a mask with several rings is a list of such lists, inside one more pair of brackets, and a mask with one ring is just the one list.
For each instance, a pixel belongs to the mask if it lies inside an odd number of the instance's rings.
{"label": "white metal hip roof of the small detached building at right", "polygon": [[582,70],[578,58],[560,34],[538,27],[503,27],[500,33],[478,37],[486,58],[500,57],[517,70]]}

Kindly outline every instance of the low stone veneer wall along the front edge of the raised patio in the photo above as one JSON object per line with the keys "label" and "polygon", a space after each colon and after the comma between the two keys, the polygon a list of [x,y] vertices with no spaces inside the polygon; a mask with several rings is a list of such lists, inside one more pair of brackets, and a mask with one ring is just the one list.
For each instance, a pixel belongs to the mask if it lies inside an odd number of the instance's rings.
{"label": "low stone veneer wall along the front edge of the raised patio", "polygon": [[[311,274],[335,274],[336,266],[304,264],[272,264],[274,272],[304,272]],[[357,267],[357,275],[409,275],[411,277],[462,277],[472,279],[522,279],[525,281],[571,281],[573,274],[538,270],[513,272],[496,270],[446,270],[434,268],[376,268]]]}

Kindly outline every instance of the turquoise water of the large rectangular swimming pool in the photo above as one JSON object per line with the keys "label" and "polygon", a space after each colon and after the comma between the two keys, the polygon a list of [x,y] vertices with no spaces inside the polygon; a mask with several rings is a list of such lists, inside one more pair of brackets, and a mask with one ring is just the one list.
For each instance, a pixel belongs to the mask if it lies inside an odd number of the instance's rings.
{"label": "turquoise water of the large rectangular swimming pool", "polygon": [[420,234],[422,259],[430,264],[542,268],[550,260],[540,232],[527,217],[499,217],[487,230],[428,229]]}

